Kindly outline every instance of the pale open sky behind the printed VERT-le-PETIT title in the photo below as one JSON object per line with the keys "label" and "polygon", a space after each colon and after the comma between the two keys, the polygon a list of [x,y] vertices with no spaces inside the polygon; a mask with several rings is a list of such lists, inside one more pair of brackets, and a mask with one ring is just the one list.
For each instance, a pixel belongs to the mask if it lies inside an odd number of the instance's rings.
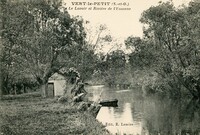
{"label": "pale open sky behind the printed VERT-le-PETIT title", "polygon": [[[89,21],[91,27],[97,27],[100,24],[105,24],[109,30],[109,33],[124,41],[128,36],[142,37],[143,25],[139,22],[143,11],[147,10],[151,6],[158,5],[158,2],[166,2],[168,0],[64,0],[68,12],[72,16],[82,16],[84,20]],[[182,4],[188,4],[191,0],[172,0],[176,7]],[[75,2],[86,2],[86,5],[79,3],[75,5]],[[110,2],[110,5],[88,5],[88,2]],[[113,6],[111,4],[126,3],[127,6]],[[82,5],[80,5],[82,4]],[[96,3],[97,4],[97,3]],[[69,10],[69,7],[73,8]],[[77,10],[77,8],[87,8],[84,10]],[[130,8],[130,10],[89,10],[89,7],[99,8]],[[76,8],[76,9],[75,9]]]}

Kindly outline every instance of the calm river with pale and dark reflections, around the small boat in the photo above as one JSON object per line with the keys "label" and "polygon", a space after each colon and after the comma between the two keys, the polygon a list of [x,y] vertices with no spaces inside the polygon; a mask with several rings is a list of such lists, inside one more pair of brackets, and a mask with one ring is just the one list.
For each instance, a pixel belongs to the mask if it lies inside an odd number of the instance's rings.
{"label": "calm river with pale and dark reflections, around the small boat", "polygon": [[93,101],[119,100],[118,107],[102,107],[96,117],[113,134],[200,135],[197,101],[143,98],[140,89],[111,89],[101,85],[87,90]]}

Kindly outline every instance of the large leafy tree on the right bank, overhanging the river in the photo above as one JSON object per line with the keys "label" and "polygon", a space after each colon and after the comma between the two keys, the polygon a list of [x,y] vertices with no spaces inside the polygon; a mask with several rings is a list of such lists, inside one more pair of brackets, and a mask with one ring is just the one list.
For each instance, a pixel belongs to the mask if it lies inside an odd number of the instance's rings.
{"label": "large leafy tree on the right bank, overhanging the river", "polygon": [[160,3],[146,10],[140,19],[148,26],[144,30],[145,42],[139,43],[132,57],[157,72],[162,77],[163,89],[176,96],[184,88],[193,97],[200,97],[199,7],[195,1],[181,9],[170,2]]}

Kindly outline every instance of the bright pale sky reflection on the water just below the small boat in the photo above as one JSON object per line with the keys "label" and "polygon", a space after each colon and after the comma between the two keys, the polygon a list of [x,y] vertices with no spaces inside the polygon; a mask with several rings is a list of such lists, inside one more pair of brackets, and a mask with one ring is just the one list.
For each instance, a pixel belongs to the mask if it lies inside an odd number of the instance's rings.
{"label": "bright pale sky reflection on the water just below the small boat", "polygon": [[[102,107],[97,115],[97,120],[101,121],[111,133],[137,134],[141,133],[141,122],[133,120],[131,104],[126,103],[122,111],[119,108]],[[109,115],[108,115],[109,114]]]}

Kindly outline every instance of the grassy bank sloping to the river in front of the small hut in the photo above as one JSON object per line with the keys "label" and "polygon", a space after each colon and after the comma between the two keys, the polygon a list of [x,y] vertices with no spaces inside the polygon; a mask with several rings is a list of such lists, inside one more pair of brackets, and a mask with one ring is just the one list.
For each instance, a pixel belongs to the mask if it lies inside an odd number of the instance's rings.
{"label": "grassy bank sloping to the river in front of the small hut", "polygon": [[[37,95],[37,94],[36,94]],[[37,96],[5,97],[0,101],[2,135],[104,135],[103,125],[70,104]]]}

